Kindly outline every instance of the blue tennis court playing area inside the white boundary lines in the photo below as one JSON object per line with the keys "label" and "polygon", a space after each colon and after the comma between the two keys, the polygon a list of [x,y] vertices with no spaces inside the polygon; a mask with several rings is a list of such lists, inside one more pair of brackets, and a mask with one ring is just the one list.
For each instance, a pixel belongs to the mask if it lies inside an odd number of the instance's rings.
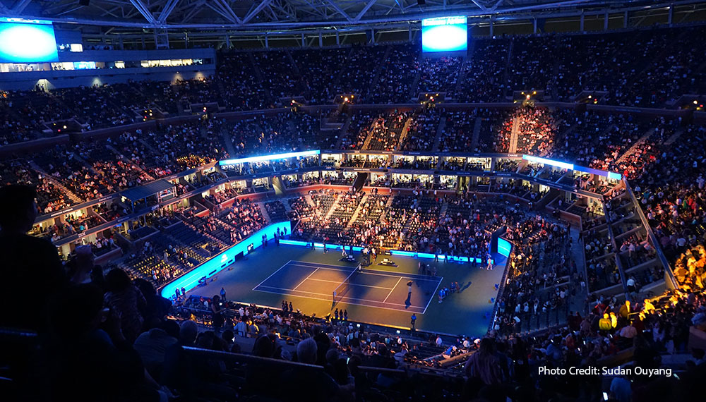
{"label": "blue tennis court playing area inside the white boundary lines", "polygon": [[[372,269],[355,272],[356,267],[357,264],[289,261],[253,291],[328,300],[333,304],[333,291],[347,281],[345,292],[337,295],[337,305],[364,305],[424,314],[443,279]],[[408,293],[407,281],[412,281],[412,293]]]}

